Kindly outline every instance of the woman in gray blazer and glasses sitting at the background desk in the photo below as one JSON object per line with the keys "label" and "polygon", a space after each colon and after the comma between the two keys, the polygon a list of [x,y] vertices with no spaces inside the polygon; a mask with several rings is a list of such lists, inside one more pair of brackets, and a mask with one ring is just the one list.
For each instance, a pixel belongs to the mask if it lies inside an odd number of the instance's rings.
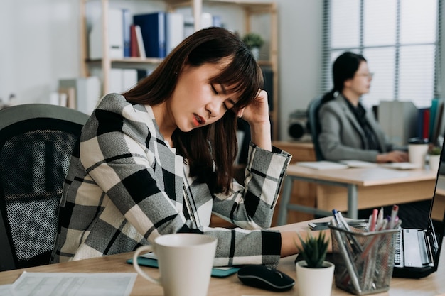
{"label": "woman in gray blazer and glasses sitting at the background desk", "polygon": [[326,160],[408,161],[408,154],[387,142],[372,111],[360,103],[371,80],[363,55],[345,52],[333,63],[334,87],[324,95],[318,111],[318,142]]}

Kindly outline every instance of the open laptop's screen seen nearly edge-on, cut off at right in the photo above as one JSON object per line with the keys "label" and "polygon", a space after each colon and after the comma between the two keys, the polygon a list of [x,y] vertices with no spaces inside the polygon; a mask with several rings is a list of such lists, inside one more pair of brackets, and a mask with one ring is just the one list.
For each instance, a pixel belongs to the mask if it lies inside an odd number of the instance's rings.
{"label": "open laptop's screen seen nearly edge-on, cut off at right", "polygon": [[434,256],[434,270],[437,270],[439,263],[439,255],[441,251],[442,238],[445,233],[445,157],[444,148],[441,152],[441,161],[439,170],[437,172],[436,188],[434,189],[434,197],[431,202],[431,209],[429,211],[428,231],[431,231],[434,236],[431,238],[431,247],[433,248]]}

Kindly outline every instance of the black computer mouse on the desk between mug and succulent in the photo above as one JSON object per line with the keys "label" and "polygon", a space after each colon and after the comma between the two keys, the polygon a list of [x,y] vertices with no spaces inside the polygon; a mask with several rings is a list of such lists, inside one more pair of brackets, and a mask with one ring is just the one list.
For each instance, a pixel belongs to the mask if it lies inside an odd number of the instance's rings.
{"label": "black computer mouse on the desk between mug and succulent", "polygon": [[264,265],[245,265],[238,270],[237,275],[245,285],[269,291],[286,291],[295,285],[289,275]]}

